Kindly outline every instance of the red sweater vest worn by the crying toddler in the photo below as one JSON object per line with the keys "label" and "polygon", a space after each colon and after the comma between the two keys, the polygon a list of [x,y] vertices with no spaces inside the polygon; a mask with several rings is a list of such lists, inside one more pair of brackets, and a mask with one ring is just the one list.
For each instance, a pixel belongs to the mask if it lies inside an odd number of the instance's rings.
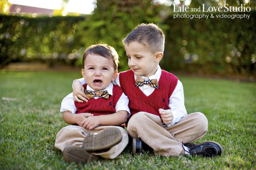
{"label": "red sweater vest worn by the crying toddler", "polygon": [[[87,84],[84,84],[83,87],[86,89]],[[78,113],[91,113],[94,116],[99,116],[103,114],[112,114],[116,113],[116,103],[123,94],[121,87],[114,85],[113,86],[113,95],[109,95],[109,99],[98,98],[90,99],[88,102],[75,102],[76,114]]]}

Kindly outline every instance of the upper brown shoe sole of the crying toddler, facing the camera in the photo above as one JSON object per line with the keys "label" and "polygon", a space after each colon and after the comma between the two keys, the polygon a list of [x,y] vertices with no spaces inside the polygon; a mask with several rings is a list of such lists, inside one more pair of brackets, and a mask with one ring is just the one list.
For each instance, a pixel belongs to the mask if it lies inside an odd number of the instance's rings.
{"label": "upper brown shoe sole of the crying toddler, facing the camera", "polygon": [[105,150],[113,147],[121,140],[122,134],[119,129],[104,129],[97,134],[86,136],[83,140],[83,148],[89,152]]}

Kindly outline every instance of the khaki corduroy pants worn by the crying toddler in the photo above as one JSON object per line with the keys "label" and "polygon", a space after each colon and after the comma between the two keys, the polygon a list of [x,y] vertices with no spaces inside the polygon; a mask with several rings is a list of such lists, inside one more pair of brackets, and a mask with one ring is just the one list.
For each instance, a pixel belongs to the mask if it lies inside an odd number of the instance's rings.
{"label": "khaki corduroy pants worn by the crying toddler", "polygon": [[94,155],[102,156],[103,158],[107,159],[114,159],[116,158],[121,152],[124,150],[124,148],[128,144],[128,135],[124,128],[120,126],[98,126],[94,128],[93,130],[89,131],[88,129],[83,128],[82,126],[75,126],[75,125],[69,125],[62,128],[56,136],[55,140],[55,147],[61,151],[64,150],[65,147],[76,145],[76,146],[83,146],[83,140],[84,137],[88,136],[92,133],[99,133],[104,129],[108,128],[118,128],[121,131],[122,134],[122,140],[120,143],[116,144],[110,150],[103,153],[93,153]]}

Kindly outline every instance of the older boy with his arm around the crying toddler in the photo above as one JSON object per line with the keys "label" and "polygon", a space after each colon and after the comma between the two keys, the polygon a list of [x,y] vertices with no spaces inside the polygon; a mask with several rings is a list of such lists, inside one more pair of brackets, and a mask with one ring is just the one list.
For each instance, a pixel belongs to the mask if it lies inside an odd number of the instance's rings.
{"label": "older boy with his arm around the crying toddler", "polygon": [[[127,131],[133,138],[133,154],[142,152],[142,140],[155,155],[221,155],[223,149],[217,142],[191,143],[206,134],[208,121],[202,113],[187,114],[182,83],[160,68],[165,44],[162,30],[155,24],[140,24],[123,44],[130,70],[120,72],[114,82],[129,98]],[[80,102],[79,96],[87,101],[80,82],[74,83],[74,99]]]}

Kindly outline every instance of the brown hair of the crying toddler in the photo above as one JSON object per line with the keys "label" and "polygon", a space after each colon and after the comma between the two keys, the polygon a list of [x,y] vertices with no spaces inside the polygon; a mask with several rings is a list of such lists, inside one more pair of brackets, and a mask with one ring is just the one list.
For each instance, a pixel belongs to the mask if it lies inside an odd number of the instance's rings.
{"label": "brown hair of the crying toddler", "polygon": [[83,54],[83,68],[84,68],[84,60],[88,54],[94,54],[98,56],[102,56],[105,58],[111,58],[114,61],[114,68],[115,71],[117,70],[118,67],[118,54],[116,50],[107,44],[95,44],[89,46]]}

